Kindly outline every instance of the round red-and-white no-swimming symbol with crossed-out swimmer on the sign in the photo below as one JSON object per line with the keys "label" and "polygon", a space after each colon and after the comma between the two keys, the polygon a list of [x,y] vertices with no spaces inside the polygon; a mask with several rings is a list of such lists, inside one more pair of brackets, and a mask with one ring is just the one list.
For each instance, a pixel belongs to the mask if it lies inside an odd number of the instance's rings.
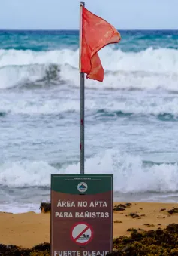
{"label": "round red-and-white no-swimming symbol with crossed-out swimmer on the sign", "polygon": [[86,223],[74,224],[71,228],[71,239],[79,245],[87,245],[93,236],[92,227]]}

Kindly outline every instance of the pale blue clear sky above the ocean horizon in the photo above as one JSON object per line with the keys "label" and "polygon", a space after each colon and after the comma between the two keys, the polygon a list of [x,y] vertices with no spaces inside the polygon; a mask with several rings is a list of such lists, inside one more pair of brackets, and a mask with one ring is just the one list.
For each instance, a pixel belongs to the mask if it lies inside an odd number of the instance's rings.
{"label": "pale blue clear sky above the ocean horizon", "polygon": [[[77,0],[0,0],[0,29],[79,29]],[[87,0],[116,29],[178,29],[178,0]]]}

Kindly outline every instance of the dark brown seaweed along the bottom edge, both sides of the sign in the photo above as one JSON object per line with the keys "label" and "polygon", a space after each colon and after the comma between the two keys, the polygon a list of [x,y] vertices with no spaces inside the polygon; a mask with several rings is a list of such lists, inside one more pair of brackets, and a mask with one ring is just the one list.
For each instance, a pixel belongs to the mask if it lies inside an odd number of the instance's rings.
{"label": "dark brown seaweed along the bottom edge, both sides of the sign", "polygon": [[[170,224],[162,230],[128,229],[131,236],[113,239],[113,252],[107,256],[177,256],[178,224]],[[50,243],[36,245],[31,249],[15,245],[1,245],[0,256],[50,256]]]}

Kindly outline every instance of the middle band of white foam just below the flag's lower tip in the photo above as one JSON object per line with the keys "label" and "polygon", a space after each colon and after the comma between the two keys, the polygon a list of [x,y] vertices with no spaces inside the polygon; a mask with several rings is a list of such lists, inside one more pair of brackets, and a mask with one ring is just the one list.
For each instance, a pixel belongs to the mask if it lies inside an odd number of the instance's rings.
{"label": "middle band of white foam just below the flag's lower tip", "polygon": [[[92,92],[86,94],[86,111],[92,112],[93,115],[98,113],[98,110],[104,110],[106,113],[131,113],[133,115],[172,115],[178,116],[178,97],[176,94],[162,94],[158,97],[156,94],[137,94],[126,95],[107,94],[104,93],[104,98],[98,99],[98,92],[92,96]],[[46,93],[43,97],[41,94],[30,94],[26,91],[23,97],[20,94],[8,92],[1,99],[0,113],[26,114],[29,116],[35,115],[58,115],[66,112],[79,113],[80,104],[77,93],[68,92],[68,97],[64,94],[50,97]],[[100,113],[98,113],[100,115]]]}

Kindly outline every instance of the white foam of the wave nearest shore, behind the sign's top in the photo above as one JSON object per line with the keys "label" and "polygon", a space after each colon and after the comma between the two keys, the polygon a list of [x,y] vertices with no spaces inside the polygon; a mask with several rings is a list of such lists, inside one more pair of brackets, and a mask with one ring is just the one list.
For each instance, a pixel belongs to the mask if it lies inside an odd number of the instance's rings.
{"label": "white foam of the wave nearest shore, behind the sign's top", "polygon": [[[80,165],[72,164],[57,170],[46,162],[11,162],[0,166],[0,184],[8,187],[50,187],[50,174],[79,173]],[[86,173],[114,174],[114,191],[120,193],[175,192],[178,187],[178,165],[146,167],[140,156],[115,150],[86,159]]]}

